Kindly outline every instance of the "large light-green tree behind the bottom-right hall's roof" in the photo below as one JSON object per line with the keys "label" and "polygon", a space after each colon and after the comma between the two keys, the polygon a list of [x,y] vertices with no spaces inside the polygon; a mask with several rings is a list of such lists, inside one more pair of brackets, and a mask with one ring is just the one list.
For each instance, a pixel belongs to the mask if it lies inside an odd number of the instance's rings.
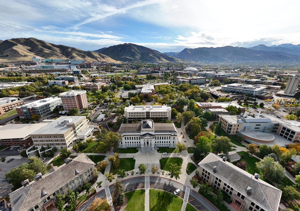
{"label": "large light-green tree behind the bottom-right hall's roof", "polygon": [[284,177],[284,168],[272,157],[265,157],[255,164],[256,168],[262,171],[263,176],[270,181],[278,182]]}

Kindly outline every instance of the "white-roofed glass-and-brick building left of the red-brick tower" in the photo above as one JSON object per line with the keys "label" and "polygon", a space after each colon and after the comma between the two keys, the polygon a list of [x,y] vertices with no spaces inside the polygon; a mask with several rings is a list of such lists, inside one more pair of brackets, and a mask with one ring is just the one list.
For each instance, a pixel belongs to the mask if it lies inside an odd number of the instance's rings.
{"label": "white-roofed glass-and-brick building left of the red-brick tower", "polygon": [[41,117],[44,117],[51,113],[53,109],[61,103],[61,99],[56,96],[48,97],[16,107],[16,111],[20,119],[30,119],[33,114],[38,114]]}

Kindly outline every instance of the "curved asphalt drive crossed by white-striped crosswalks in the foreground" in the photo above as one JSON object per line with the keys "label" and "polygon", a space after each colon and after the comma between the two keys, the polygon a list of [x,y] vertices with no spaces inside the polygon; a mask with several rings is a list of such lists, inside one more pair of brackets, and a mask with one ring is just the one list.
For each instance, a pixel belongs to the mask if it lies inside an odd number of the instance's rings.
{"label": "curved asphalt drive crossed by white-striped crosswalks in the foreground", "polygon": [[[130,179],[122,180],[122,184],[124,186],[125,192],[133,191],[136,189],[144,189],[145,185],[145,177],[134,177]],[[183,184],[178,183],[173,180],[169,180],[164,177],[150,177],[150,188],[151,189],[159,189],[164,190],[170,193],[173,193],[176,189],[180,189],[180,193],[177,195],[180,198],[184,198],[184,192],[185,187]],[[109,187],[110,193],[113,192],[113,185]],[[85,201],[84,204],[82,204],[80,207],[77,208],[76,211],[85,211],[88,210],[89,204],[95,199],[95,197],[98,198],[106,198],[106,194],[104,189],[99,191],[97,194],[92,196],[90,199]],[[214,205],[212,205],[209,201],[207,201],[205,198],[203,198],[201,195],[199,195],[197,192],[193,191],[191,189],[188,202],[192,204],[197,210],[209,210],[209,211],[218,211]],[[150,201],[151,204],[151,201]]]}

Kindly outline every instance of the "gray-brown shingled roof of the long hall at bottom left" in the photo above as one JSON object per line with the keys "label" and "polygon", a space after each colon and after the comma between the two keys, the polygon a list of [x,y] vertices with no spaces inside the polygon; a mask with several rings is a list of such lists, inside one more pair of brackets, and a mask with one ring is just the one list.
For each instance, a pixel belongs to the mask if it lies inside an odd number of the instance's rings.
{"label": "gray-brown shingled roof of the long hall at bottom left", "polygon": [[[57,170],[43,175],[40,180],[34,180],[26,187],[15,190],[9,194],[12,211],[29,210],[76,178],[75,169],[85,172],[94,165],[95,163],[82,153],[68,165],[61,165]],[[41,193],[47,194],[41,197]]]}

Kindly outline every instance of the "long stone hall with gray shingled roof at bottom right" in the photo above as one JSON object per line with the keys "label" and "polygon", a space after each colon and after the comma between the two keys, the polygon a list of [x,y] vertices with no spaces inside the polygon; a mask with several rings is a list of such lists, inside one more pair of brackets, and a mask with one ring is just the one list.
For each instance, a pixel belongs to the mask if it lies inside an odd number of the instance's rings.
{"label": "long stone hall with gray shingled roof at bottom right", "polygon": [[199,162],[199,176],[214,189],[227,192],[235,210],[278,211],[282,191],[210,153]]}

